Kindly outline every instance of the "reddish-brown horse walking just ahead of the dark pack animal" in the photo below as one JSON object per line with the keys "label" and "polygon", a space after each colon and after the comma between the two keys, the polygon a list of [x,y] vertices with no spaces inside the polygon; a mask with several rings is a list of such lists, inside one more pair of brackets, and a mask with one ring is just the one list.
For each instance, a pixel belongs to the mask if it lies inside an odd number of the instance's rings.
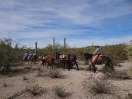
{"label": "reddish-brown horse walking just ahead of the dark pack animal", "polygon": [[42,65],[46,66],[48,68],[48,66],[51,66],[51,69],[53,69],[53,65],[54,65],[54,57],[50,56],[50,55],[46,55],[46,56],[39,56],[39,60],[42,61]]}

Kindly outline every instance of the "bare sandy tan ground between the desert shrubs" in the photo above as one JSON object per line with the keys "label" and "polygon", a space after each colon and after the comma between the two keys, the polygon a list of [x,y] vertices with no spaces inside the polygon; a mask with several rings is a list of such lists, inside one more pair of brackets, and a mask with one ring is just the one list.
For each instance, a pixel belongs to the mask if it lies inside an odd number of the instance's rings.
{"label": "bare sandy tan ground between the desert shrubs", "polygon": [[[113,94],[91,94],[84,90],[82,83],[89,76],[101,76],[102,73],[97,71],[85,71],[83,61],[78,61],[80,70],[74,69],[62,70],[59,78],[51,78],[49,76],[49,68],[42,67],[38,62],[36,65],[25,64],[16,67],[20,72],[10,75],[0,75],[0,99],[126,99],[128,93],[132,93],[132,80],[127,79],[110,79],[114,85]],[[96,65],[98,69],[103,65]],[[120,63],[116,66],[116,70],[131,70],[131,62]],[[38,68],[40,68],[38,71]],[[24,71],[23,71],[24,70]],[[53,93],[53,87],[62,85],[65,88],[63,97],[57,97]],[[39,95],[33,95],[30,92],[24,92],[25,89],[32,89],[34,86],[41,90]],[[38,86],[38,87],[37,87]],[[40,91],[39,90],[39,91]],[[11,97],[14,96],[14,97]],[[10,98],[9,98],[10,97]]]}

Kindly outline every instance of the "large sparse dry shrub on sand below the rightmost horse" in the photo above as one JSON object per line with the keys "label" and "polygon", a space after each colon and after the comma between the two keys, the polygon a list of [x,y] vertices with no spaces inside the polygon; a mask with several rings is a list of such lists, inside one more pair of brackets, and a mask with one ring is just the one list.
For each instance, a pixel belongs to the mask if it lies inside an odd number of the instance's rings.
{"label": "large sparse dry shrub on sand below the rightmost horse", "polygon": [[82,85],[86,93],[91,92],[93,94],[107,94],[111,93],[113,89],[113,85],[105,76],[95,77],[95,75],[90,75]]}

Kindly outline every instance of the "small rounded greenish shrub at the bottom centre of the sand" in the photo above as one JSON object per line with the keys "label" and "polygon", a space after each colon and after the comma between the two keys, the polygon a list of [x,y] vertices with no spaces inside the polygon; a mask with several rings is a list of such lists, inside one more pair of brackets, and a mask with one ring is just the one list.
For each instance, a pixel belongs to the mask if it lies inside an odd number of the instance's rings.
{"label": "small rounded greenish shrub at the bottom centre of the sand", "polygon": [[65,93],[65,88],[63,85],[55,85],[53,86],[53,92],[55,95],[62,97],[63,94]]}

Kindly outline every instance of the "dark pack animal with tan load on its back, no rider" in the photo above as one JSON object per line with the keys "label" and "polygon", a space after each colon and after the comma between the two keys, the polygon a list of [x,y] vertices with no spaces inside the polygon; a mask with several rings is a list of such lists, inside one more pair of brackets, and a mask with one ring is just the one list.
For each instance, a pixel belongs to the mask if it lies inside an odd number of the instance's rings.
{"label": "dark pack animal with tan load on its back, no rider", "polygon": [[74,62],[74,64],[76,64],[77,66],[77,69],[79,70],[78,64],[76,62],[77,58],[75,55],[56,53],[56,59],[60,59],[62,69],[65,69],[65,65],[67,63],[68,70],[70,70],[72,67],[72,63]]}

